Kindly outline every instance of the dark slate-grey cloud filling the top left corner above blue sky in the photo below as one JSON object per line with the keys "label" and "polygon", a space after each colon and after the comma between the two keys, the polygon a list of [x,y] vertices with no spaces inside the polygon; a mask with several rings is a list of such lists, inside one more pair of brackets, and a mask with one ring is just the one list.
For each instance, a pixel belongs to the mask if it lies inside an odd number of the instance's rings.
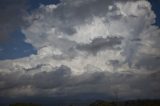
{"label": "dark slate-grey cloud filling the top left corner above blue sky", "polygon": [[0,0],[0,41],[24,24],[22,17],[26,9],[26,0]]}

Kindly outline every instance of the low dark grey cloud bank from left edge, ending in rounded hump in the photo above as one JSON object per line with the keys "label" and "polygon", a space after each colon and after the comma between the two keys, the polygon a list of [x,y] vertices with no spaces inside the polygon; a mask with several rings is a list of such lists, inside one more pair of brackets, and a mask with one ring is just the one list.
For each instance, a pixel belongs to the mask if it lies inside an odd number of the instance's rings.
{"label": "low dark grey cloud bank from left edge, ending in rounded hump", "polygon": [[[39,69],[37,67],[37,69]],[[10,74],[0,73],[1,90],[14,89],[16,87],[33,85],[39,89],[51,89],[65,86],[71,77],[71,70],[67,66],[54,67],[50,72],[39,72],[29,75],[28,72],[13,72]]]}

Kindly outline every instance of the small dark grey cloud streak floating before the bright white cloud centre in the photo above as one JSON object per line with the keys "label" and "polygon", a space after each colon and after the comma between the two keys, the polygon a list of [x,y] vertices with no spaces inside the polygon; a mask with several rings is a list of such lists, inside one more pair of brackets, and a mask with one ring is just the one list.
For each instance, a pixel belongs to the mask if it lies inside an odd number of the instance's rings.
{"label": "small dark grey cloud streak floating before the bright white cloud centre", "polygon": [[121,44],[122,39],[122,37],[95,38],[90,44],[79,44],[77,49],[92,54],[97,54],[97,52],[105,49],[117,50],[119,48],[116,46]]}

